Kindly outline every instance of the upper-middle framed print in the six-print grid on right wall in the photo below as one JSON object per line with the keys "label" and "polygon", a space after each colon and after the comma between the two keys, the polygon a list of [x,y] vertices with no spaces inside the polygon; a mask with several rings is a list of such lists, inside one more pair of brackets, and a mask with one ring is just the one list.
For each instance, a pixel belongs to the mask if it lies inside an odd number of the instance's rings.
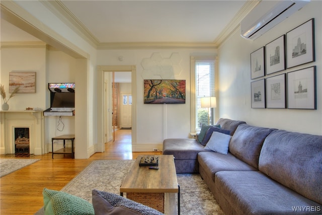
{"label": "upper-middle framed print in the six-print grid on right wall", "polygon": [[266,51],[266,75],[285,69],[285,34],[268,43]]}

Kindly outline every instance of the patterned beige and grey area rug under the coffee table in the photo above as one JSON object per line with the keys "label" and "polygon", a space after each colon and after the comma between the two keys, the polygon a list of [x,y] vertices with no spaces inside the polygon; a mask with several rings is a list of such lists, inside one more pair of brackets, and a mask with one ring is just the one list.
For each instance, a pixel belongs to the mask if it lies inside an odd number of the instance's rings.
{"label": "patterned beige and grey area rug under the coffee table", "polygon": [[[89,202],[92,202],[92,189],[120,194],[122,180],[133,163],[134,160],[93,161],[61,191],[82,197]],[[177,178],[181,192],[181,214],[223,214],[199,174],[177,174]]]}

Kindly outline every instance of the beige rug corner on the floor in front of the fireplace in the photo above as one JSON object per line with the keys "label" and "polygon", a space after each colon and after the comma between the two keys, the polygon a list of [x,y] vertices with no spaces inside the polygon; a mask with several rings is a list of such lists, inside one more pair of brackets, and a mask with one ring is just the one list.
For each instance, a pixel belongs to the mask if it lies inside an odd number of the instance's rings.
{"label": "beige rug corner on the floor in front of the fireplace", "polygon": [[33,164],[40,159],[0,159],[0,177]]}

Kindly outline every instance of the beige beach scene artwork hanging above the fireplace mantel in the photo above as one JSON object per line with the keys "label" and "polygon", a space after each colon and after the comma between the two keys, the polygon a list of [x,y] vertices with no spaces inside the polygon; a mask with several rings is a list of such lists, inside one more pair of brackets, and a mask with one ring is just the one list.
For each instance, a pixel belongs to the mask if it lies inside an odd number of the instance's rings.
{"label": "beige beach scene artwork hanging above the fireplace mantel", "polygon": [[17,93],[36,93],[35,71],[11,71],[9,73],[9,93],[20,86]]}

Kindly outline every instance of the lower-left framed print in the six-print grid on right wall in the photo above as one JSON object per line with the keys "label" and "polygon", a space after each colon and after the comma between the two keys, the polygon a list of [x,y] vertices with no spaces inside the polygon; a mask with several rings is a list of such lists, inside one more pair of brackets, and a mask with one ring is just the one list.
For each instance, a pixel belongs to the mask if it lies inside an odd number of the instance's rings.
{"label": "lower-left framed print in the six-print grid on right wall", "polygon": [[252,108],[266,108],[265,102],[265,79],[251,83]]}

